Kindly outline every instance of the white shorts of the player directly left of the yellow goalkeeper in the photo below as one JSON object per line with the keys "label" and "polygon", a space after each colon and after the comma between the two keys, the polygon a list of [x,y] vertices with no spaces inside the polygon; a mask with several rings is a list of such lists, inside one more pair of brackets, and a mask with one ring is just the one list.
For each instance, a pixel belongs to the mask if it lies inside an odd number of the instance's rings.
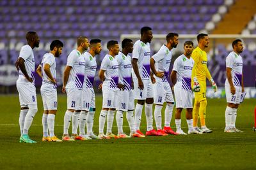
{"label": "white shorts of the player directly left of the yellow goalkeeper", "polygon": [[182,89],[182,84],[174,85],[176,108],[193,108],[193,92]]}

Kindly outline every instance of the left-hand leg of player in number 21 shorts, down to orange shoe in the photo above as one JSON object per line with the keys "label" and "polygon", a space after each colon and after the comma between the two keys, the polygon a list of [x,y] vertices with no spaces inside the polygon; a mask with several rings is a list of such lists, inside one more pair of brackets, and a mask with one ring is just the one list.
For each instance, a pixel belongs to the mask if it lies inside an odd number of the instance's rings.
{"label": "left-hand leg of player in number 21 shorts, down to orange shoe", "polygon": [[76,97],[74,88],[66,88],[67,92],[67,111],[64,115],[64,125],[63,125],[63,141],[74,141],[74,139],[70,138],[68,135],[68,129],[71,122],[71,117],[76,109]]}

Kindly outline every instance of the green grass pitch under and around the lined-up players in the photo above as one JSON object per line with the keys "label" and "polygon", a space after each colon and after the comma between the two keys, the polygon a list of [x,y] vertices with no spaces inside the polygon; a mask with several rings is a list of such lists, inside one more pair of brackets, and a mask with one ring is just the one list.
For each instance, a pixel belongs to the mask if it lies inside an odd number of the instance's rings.
{"label": "green grass pitch under and around the lined-up players", "polygon": [[[102,97],[97,96],[93,131],[98,133]],[[29,131],[38,143],[19,143],[19,98],[0,96],[1,169],[255,169],[256,132],[252,132],[255,99],[245,99],[237,113],[237,128],[244,133],[227,134],[225,99],[209,99],[207,126],[212,134],[164,136],[128,139],[43,143],[42,99],[38,95],[38,113]],[[61,138],[66,96],[58,96],[55,134]],[[187,124],[182,113],[182,127]],[[154,124],[155,125],[155,124]],[[129,127],[124,116],[124,132]],[[143,114],[141,131],[145,132]],[[172,127],[175,129],[174,117]],[[71,130],[71,128],[70,128]],[[106,131],[106,127],[105,127]],[[114,122],[113,132],[117,132]]]}

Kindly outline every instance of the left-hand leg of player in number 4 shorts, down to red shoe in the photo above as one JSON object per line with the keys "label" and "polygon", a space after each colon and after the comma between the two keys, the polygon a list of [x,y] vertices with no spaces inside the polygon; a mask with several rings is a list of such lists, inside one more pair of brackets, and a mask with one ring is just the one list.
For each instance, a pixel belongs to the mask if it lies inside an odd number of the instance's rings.
{"label": "left-hand leg of player in number 4 shorts, down to red shoe", "polygon": [[[140,90],[138,89],[138,80],[134,79],[134,96],[135,99],[137,99],[137,104],[135,106],[135,110],[134,110],[134,125],[135,125],[135,130],[136,132],[138,132],[141,135],[144,135],[141,131],[140,131],[140,122],[141,122],[141,114],[142,114],[142,110],[143,110],[143,106],[145,103],[145,99],[147,98],[147,93],[145,90],[145,85],[144,85],[144,89]],[[144,83],[144,81],[143,81]]]}

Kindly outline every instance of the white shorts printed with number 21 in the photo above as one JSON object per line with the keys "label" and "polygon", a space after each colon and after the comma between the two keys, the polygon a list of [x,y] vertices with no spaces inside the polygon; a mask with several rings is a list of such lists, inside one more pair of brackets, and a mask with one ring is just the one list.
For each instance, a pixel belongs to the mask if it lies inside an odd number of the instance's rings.
{"label": "white shorts printed with number 21", "polygon": [[66,88],[68,109],[82,110],[82,91],[76,88]]}

